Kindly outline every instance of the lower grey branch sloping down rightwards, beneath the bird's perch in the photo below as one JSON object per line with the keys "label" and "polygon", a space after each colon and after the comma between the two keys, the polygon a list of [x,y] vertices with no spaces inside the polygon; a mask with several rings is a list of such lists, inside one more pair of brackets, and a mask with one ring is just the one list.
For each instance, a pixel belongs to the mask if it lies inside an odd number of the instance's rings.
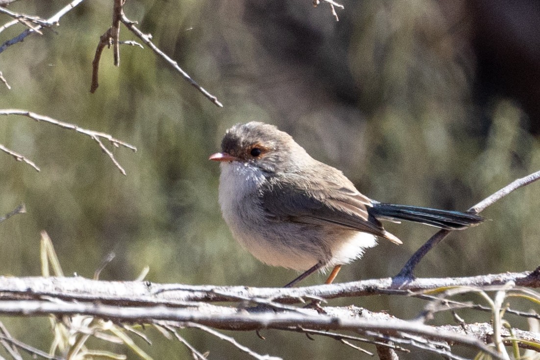
{"label": "lower grey branch sloping down rightwards, beneath the bird's perch", "polygon": [[[204,311],[204,307],[201,308],[202,310],[178,309],[168,308],[163,305],[154,307],[117,307],[88,302],[0,301],[0,314],[3,315],[45,316],[54,314],[72,316],[82,314],[120,322],[160,323],[162,321],[170,321],[178,322],[187,327],[190,324],[201,324],[212,328],[236,331],[302,327],[319,330],[348,330],[368,335],[376,332],[381,336],[386,334],[402,336],[401,333],[404,332],[434,341],[464,345],[484,351],[495,358],[501,358],[478,338],[471,336],[471,334],[464,335],[463,329],[458,330],[459,327],[443,330],[440,327],[400,320],[387,314],[369,313],[359,308],[356,308],[356,316],[354,317],[331,312],[322,315],[314,309],[305,310],[301,314],[298,314],[293,312],[275,313],[274,311],[249,313],[248,311],[241,311],[237,308],[220,308],[225,311],[218,312],[215,309],[213,311]],[[338,311],[344,310],[350,313],[350,307],[334,309]],[[376,317],[372,318],[366,315],[375,315]],[[381,316],[384,319],[381,319]],[[527,335],[529,338],[534,338],[535,336],[534,334]]]}

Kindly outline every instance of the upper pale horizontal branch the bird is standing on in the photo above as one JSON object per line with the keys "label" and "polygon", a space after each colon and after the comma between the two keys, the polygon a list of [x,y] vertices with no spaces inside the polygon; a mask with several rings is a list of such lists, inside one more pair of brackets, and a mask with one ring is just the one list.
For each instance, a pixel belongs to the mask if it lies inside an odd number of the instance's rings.
{"label": "upper pale horizontal branch the bird is standing on", "polygon": [[416,279],[396,289],[391,278],[348,283],[323,284],[302,288],[254,288],[245,286],[192,286],[158,284],[149,281],[98,281],[83,277],[3,277],[0,276],[2,298],[58,297],[63,300],[99,301],[123,305],[192,306],[196,302],[257,301],[298,304],[313,299],[381,294],[408,295],[413,291],[441,287],[487,287],[514,281],[516,286],[540,287],[540,270],[524,273],[503,273],[471,277]]}

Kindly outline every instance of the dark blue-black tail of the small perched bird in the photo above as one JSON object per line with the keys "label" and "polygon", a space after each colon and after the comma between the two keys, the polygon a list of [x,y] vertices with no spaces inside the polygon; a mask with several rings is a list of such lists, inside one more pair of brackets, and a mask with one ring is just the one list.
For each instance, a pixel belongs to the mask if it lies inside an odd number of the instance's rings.
{"label": "dark blue-black tail of the small perched bird", "polygon": [[381,202],[374,202],[373,207],[369,208],[368,212],[379,219],[420,222],[448,230],[460,230],[484,221],[482,216],[473,213]]}

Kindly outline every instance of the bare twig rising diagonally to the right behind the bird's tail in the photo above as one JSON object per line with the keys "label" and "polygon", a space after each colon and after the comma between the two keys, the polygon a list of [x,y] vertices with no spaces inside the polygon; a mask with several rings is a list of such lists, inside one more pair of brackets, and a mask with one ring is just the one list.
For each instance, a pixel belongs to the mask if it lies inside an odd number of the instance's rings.
{"label": "bare twig rising diagonally to the right behind the bird's tail", "polygon": [[[511,193],[512,191],[525,185],[529,185],[531,184],[531,182],[534,182],[538,179],[540,179],[540,171],[525,176],[524,178],[514,180],[496,193],[478,202],[476,205],[471,207],[468,212],[478,214],[488,206],[492,205],[496,201],[502,199],[504,196]],[[450,234],[450,231],[451,230],[446,229],[439,230],[437,233],[435,233],[435,235],[431,236],[430,239],[426,243],[424,243],[418,250],[416,250],[416,253],[414,253],[413,256],[410,257],[410,259],[403,266],[400,272],[394,277],[396,287],[414,278],[414,269],[416,265],[422,260],[424,256],[426,256],[426,254],[429,252],[429,250],[431,250],[431,248],[433,248],[436,244],[441,242],[441,240],[447,237],[448,234]]]}

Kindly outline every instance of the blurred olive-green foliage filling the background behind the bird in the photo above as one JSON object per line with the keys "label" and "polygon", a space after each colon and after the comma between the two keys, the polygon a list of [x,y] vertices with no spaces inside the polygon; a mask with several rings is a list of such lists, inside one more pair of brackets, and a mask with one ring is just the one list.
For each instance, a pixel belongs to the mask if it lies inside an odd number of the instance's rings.
{"label": "blurred olive-green foliage filling the background behind the bird", "polygon": [[[65,3],[21,1],[10,9],[48,17]],[[0,84],[0,107],[110,133],[138,152],[112,149],[123,176],[90,138],[28,118],[0,119],[0,144],[42,169],[0,153],[0,212],[22,202],[28,209],[0,223],[1,274],[39,275],[39,233],[46,230],[66,274],[91,277],[114,252],[102,279],[131,280],[146,265],[154,282],[280,286],[293,279],[293,271],[270,268],[241,249],[221,219],[219,168],[207,158],[238,122],[278,125],[314,158],[342,169],[361,192],[386,202],[467,209],[540,168],[540,144],[524,130],[528,119],[519,107],[503,98],[474,101],[470,22],[461,21],[466,10],[431,0],[363,1],[346,3],[335,22],[325,5],[126,3],[127,17],[224,108],[149,49],[127,45],[119,68],[105,49],[99,88],[90,94],[91,62],[110,26],[110,1],[83,2],[56,32],[4,51],[0,70],[12,89]],[[23,30],[14,28],[2,41]],[[134,39],[125,28],[121,38]],[[483,213],[492,221],[438,245],[417,276],[534,269],[539,203],[535,184],[507,196]],[[396,274],[435,231],[387,227],[404,244],[381,243],[346,266],[338,281]],[[315,275],[304,284],[322,281]],[[402,318],[422,306],[401,297],[353,301]],[[42,320],[32,328],[20,319],[2,321],[19,339],[48,347]],[[260,353],[290,359],[357,356],[330,339],[268,331],[262,342],[252,333],[233,335]],[[147,351],[155,358],[189,357],[180,344],[149,336],[156,343]],[[183,336],[210,350],[210,358],[247,358],[197,330]]]}

